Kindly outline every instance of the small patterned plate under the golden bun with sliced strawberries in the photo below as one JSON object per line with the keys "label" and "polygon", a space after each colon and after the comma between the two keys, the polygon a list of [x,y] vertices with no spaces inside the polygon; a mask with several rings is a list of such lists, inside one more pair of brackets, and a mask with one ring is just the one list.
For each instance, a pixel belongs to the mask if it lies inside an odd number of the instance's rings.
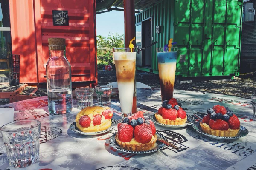
{"label": "small patterned plate under the golden bun with sliced strawberries", "polygon": [[76,122],[73,122],[70,125],[70,130],[75,132],[75,133],[82,134],[82,135],[99,135],[99,134],[106,133],[108,131],[113,130],[116,127],[116,125],[117,125],[116,120],[111,119],[111,126],[106,130],[102,130],[102,131],[99,131],[99,132],[82,132],[81,130],[79,130],[79,128],[76,127]]}

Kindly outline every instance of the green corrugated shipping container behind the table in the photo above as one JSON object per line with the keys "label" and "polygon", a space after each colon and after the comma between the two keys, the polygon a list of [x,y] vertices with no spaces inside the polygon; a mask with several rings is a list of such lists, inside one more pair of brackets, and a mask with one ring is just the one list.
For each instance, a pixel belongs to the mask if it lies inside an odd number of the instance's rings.
{"label": "green corrugated shipping container behind the table", "polygon": [[176,75],[239,75],[242,0],[163,0],[135,17],[137,69],[158,73],[157,47],[177,42]]}

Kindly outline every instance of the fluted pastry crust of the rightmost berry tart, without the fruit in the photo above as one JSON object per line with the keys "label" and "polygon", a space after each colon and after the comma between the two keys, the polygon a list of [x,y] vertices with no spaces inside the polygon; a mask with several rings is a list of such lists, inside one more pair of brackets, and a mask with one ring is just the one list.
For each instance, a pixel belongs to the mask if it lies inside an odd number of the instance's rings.
{"label": "fluted pastry crust of the rightmost berry tart, without the fruit", "polygon": [[211,129],[209,125],[206,123],[200,122],[201,129],[204,133],[208,133],[215,136],[222,136],[222,137],[234,137],[239,132],[239,129],[228,129],[228,130],[215,130]]}

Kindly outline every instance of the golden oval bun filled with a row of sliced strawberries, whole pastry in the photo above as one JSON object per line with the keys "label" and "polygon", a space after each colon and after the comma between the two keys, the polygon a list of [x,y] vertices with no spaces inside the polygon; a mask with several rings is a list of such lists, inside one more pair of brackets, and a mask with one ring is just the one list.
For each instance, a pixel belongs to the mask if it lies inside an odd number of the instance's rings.
{"label": "golden oval bun filled with a row of sliced strawberries, whole pastry", "polygon": [[76,127],[82,132],[99,132],[111,126],[112,117],[109,107],[87,107],[76,115]]}

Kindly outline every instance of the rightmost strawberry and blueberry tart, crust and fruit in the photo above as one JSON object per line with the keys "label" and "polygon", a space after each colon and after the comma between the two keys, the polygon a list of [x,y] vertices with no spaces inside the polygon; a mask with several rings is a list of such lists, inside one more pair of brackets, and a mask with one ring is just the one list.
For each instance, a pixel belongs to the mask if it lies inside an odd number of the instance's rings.
{"label": "rightmost strawberry and blueberry tart, crust and fruit", "polygon": [[204,133],[215,136],[234,137],[240,129],[240,121],[228,107],[215,105],[207,110],[207,115],[200,122]]}

